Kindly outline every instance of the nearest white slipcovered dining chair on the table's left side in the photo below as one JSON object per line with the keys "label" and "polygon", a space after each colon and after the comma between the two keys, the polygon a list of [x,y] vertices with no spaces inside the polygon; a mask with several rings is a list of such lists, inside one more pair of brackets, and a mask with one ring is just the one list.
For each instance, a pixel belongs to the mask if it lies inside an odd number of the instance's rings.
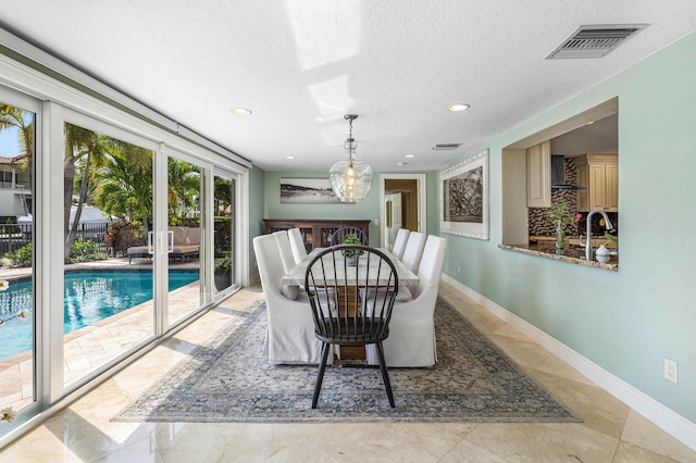
{"label": "nearest white slipcovered dining chair on the table's left side", "polygon": [[[319,364],[322,342],[314,336],[309,299],[303,292],[297,299],[284,296],[281,278],[285,271],[275,236],[262,235],[253,238],[253,252],[259,264],[269,316],[264,345],[269,362]],[[328,363],[331,362],[333,356]]]}

